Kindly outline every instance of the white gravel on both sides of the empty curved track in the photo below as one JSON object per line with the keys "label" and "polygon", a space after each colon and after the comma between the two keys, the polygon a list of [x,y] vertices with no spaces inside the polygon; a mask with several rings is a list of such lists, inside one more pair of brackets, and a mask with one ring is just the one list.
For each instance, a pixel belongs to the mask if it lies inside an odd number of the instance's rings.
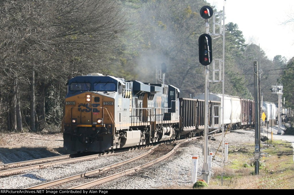
{"label": "white gravel on both sides of the empty curved track", "polygon": [[[233,145],[240,143],[254,143],[254,134],[238,134],[228,133],[225,136],[225,142]],[[216,141],[209,140],[211,152],[216,152],[221,140],[221,136],[215,136]],[[101,189],[157,189],[165,188],[173,184],[187,185],[191,183],[191,164],[192,155],[196,154],[198,158],[198,178],[201,178],[201,170],[203,166],[202,156],[203,139],[197,139],[183,144],[177,151],[181,153],[175,154],[163,162],[159,162],[155,166],[148,167],[148,172],[138,172],[131,175],[123,176],[111,182],[99,186]],[[0,179],[1,189],[21,189],[24,187],[44,183],[61,177],[74,175],[81,172],[104,167],[115,162],[137,156],[146,152],[148,149],[124,152],[121,154],[98,157],[95,160],[76,162],[73,164],[56,165],[44,169],[34,169],[26,171],[23,174],[15,176],[2,177]],[[221,159],[216,156],[212,162],[212,167],[220,167]],[[212,170],[213,170],[212,168]]]}

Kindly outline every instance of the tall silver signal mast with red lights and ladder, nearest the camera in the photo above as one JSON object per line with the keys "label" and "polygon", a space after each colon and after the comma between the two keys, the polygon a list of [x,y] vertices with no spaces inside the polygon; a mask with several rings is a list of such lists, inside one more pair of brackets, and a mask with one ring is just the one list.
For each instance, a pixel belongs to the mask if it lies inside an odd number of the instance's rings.
{"label": "tall silver signal mast with red lights and ladder, nearest the camera", "polygon": [[[224,105],[224,59],[225,59],[225,7],[223,6],[223,13],[221,12],[213,12],[213,9],[210,6],[203,6],[200,9],[200,15],[202,18],[205,19],[205,33],[200,35],[198,38],[198,45],[199,45],[199,62],[204,65],[204,75],[205,75],[205,93],[204,93],[204,163],[202,168],[202,177],[206,181],[206,183],[209,183],[209,173],[210,169],[208,166],[208,154],[210,151],[208,151],[208,129],[209,128],[215,128],[217,130],[220,129],[220,126],[208,126],[208,89],[209,89],[209,82],[222,82],[223,83],[223,100],[222,105]],[[219,17],[219,22],[216,22],[216,16]],[[213,33],[209,33],[209,23],[208,19],[213,17]],[[222,21],[223,19],[223,21]],[[216,33],[216,25],[219,25],[219,32]],[[212,59],[212,38],[211,36],[214,36],[213,39],[218,37],[223,37],[223,59]],[[215,67],[215,61],[219,62],[218,68]],[[209,80],[209,71],[208,71],[208,65],[212,63],[212,80]],[[221,74],[221,71],[223,74]],[[215,78],[215,73],[218,72],[218,79]],[[220,124],[220,118],[219,116],[214,116],[214,109],[220,109],[219,107],[213,107],[212,115],[213,119],[218,118],[218,124]],[[222,107],[222,124],[224,123],[224,112]],[[220,112],[217,112],[220,113]],[[214,124],[214,122],[212,122]],[[214,131],[212,131],[214,132]],[[223,132],[223,139],[224,139],[224,126],[222,126],[222,132]],[[223,154],[223,148],[224,148],[224,140],[223,140],[223,147],[222,147],[222,154]],[[222,165],[224,163],[224,156],[222,160]],[[222,182],[223,183],[223,182]]]}

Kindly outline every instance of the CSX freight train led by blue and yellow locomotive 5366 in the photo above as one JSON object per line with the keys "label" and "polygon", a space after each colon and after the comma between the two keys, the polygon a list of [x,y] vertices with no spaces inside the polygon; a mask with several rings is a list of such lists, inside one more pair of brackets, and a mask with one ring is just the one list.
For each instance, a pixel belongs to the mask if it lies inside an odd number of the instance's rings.
{"label": "CSX freight train led by blue and yellow locomotive 5366", "polygon": [[[179,93],[173,85],[127,81],[98,73],[72,78],[62,120],[64,147],[73,152],[105,152],[201,134],[204,99],[179,98]],[[225,123],[235,127],[254,124],[250,114],[253,101],[242,101],[236,104],[240,109],[226,108],[230,109],[230,120]],[[220,105],[219,99],[209,100],[210,127],[219,126]],[[235,116],[233,112],[239,110],[243,113]]]}

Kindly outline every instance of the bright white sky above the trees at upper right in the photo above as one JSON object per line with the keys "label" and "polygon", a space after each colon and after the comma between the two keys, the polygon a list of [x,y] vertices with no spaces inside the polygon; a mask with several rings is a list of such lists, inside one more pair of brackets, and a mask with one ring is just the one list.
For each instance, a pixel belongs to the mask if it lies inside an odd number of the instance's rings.
{"label": "bright white sky above the trees at upper right", "polygon": [[[218,11],[223,0],[206,0]],[[238,24],[246,43],[259,44],[269,59],[294,57],[294,0],[226,0],[225,23]],[[209,29],[212,32],[212,27]]]}

